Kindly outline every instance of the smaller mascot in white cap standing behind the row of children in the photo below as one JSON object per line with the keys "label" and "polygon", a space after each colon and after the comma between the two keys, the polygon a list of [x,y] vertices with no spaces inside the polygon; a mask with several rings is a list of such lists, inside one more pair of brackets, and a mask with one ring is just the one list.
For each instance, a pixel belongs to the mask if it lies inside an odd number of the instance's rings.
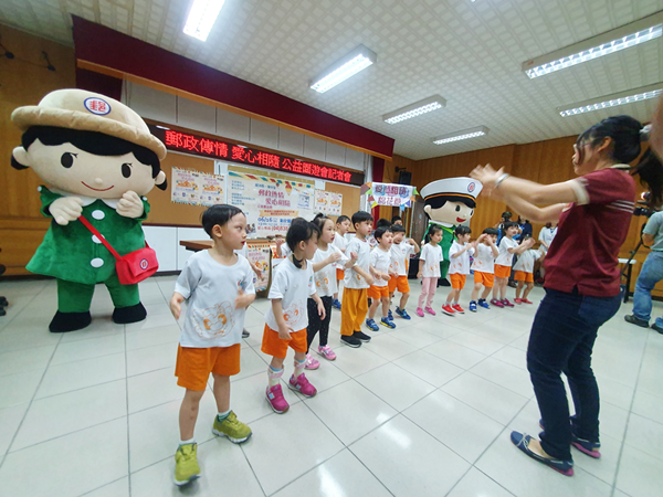
{"label": "smaller mascot in white cap standing behind the row of children", "polygon": [[[429,216],[429,229],[433,224],[442,228],[442,241],[439,245],[442,247],[444,261],[440,263],[438,286],[450,286],[446,273],[453,233],[456,226],[469,222],[474,215],[476,197],[482,188],[483,184],[472,178],[446,178],[428,183],[420,191],[423,197],[423,211]],[[428,231],[424,243],[428,240]]]}

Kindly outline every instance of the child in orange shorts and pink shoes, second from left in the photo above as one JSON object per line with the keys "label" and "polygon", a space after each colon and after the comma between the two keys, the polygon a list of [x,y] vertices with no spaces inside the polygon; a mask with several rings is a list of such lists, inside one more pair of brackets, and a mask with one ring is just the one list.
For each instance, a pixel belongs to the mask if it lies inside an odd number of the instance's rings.
{"label": "child in orange shorts and pink shoes, second from left", "polygon": [[267,296],[272,300],[272,306],[265,314],[266,322],[261,350],[272,356],[272,362],[267,368],[270,384],[265,395],[272,410],[277,414],[283,414],[290,409],[280,383],[288,347],[295,351],[295,371],[287,387],[304,396],[314,396],[317,393],[315,387],[306,379],[304,368],[307,351],[308,297],[315,300],[320,320],[326,316],[323,300],[315,292],[313,264],[308,262],[317,250],[318,233],[317,226],[305,219],[293,220],[285,235],[291,255],[274,269]]}

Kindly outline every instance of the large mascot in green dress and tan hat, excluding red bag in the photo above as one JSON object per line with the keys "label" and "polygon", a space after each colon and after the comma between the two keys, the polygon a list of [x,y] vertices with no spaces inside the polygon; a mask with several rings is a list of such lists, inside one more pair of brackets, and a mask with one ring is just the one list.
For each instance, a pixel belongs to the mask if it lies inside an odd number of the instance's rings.
{"label": "large mascot in green dress and tan hat, excluding red bag", "polygon": [[115,322],[145,319],[138,285],[119,283],[115,257],[78,218],[120,256],[144,248],[145,195],[155,186],[166,189],[164,144],[129,107],[83,89],[52,92],[36,106],[17,108],[11,119],[23,131],[12,167],[32,168],[48,184],[39,190],[51,226],[27,268],[57,279],[57,313],[49,329],[90,325],[97,283],[108,288]]}

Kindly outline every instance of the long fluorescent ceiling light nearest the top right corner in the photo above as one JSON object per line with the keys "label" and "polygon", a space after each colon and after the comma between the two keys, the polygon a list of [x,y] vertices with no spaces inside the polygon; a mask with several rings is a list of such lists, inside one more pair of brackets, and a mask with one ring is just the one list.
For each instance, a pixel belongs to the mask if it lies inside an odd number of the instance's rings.
{"label": "long fluorescent ceiling light nearest the top right corner", "polygon": [[663,12],[649,15],[598,36],[566,46],[523,63],[523,71],[535,78],[582,62],[602,57],[645,43],[663,34]]}

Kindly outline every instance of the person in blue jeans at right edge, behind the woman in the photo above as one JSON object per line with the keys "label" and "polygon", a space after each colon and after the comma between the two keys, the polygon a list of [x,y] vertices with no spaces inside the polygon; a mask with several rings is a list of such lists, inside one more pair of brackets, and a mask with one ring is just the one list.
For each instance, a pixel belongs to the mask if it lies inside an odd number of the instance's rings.
{"label": "person in blue jeans at right edge, behind the woman", "polygon": [[[649,328],[652,313],[652,289],[663,279],[663,212],[654,213],[642,231],[642,243],[651,248],[646,256],[633,294],[633,314],[624,316],[627,322]],[[656,318],[652,328],[663,334],[663,318]]]}

